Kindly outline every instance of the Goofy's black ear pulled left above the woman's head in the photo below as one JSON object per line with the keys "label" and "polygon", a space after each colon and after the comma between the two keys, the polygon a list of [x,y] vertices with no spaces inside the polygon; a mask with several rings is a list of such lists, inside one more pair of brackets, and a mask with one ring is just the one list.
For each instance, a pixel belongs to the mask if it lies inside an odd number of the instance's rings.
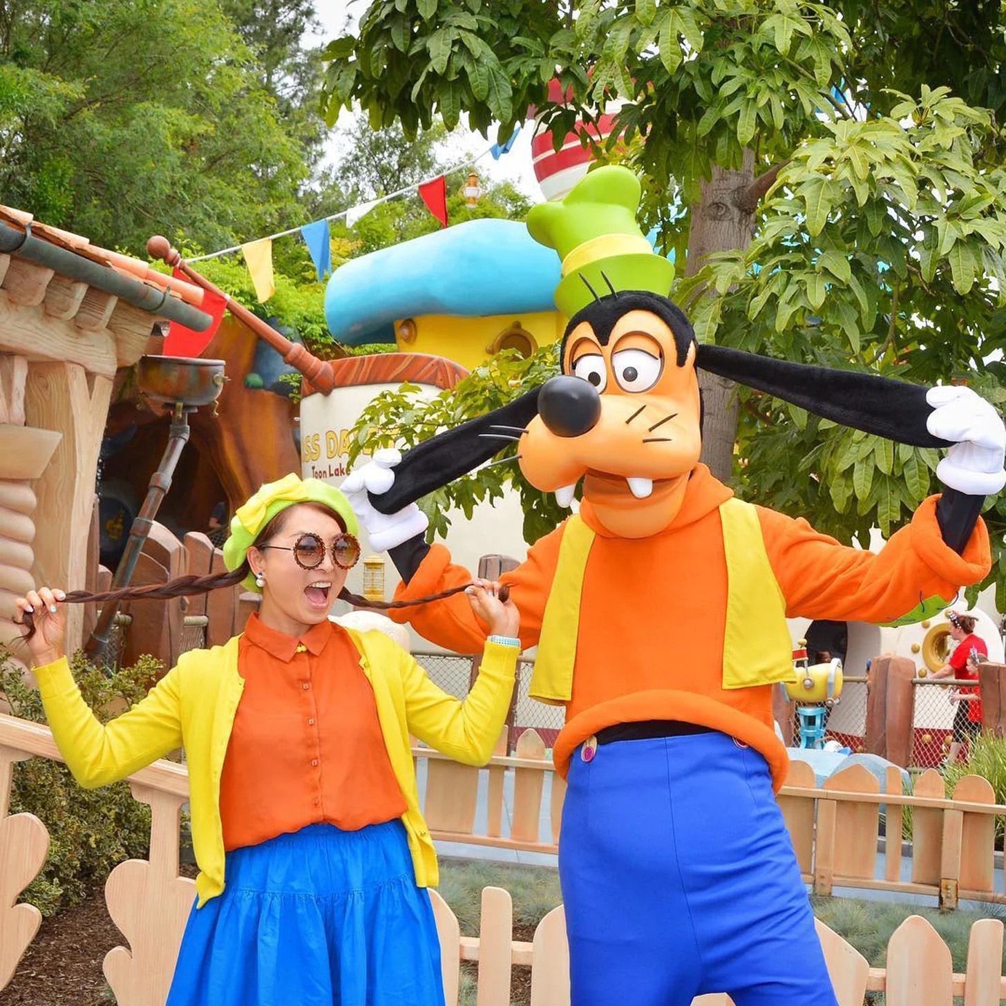
{"label": "Goofy's black ear pulled left above the woman's head", "polygon": [[395,513],[429,493],[474,471],[506,447],[538,414],[534,388],[499,408],[416,444],[394,467],[394,485],[370,502],[380,513]]}

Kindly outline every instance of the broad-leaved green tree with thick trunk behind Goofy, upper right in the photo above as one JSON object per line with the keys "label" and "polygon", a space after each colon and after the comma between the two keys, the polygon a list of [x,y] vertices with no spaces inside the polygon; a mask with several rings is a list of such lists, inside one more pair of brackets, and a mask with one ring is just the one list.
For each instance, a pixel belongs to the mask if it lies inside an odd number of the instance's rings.
{"label": "broad-leaved green tree with thick trunk behind Goofy, upper right", "polygon": [[[998,2],[378,0],[326,55],[329,117],[359,103],[406,135],[464,112],[505,138],[533,105],[558,144],[621,100],[597,153],[642,174],[700,339],[1001,400]],[[865,540],[938,489],[934,452],[703,380],[704,457],[748,498]]]}

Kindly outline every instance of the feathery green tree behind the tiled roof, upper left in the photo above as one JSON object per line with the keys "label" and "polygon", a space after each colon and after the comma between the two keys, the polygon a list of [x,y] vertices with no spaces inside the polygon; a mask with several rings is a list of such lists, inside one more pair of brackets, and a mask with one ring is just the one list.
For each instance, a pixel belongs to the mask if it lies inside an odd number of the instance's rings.
{"label": "feathery green tree behind the tiled roof, upper left", "polygon": [[138,254],[287,226],[309,151],[256,58],[213,2],[0,2],[0,199]]}

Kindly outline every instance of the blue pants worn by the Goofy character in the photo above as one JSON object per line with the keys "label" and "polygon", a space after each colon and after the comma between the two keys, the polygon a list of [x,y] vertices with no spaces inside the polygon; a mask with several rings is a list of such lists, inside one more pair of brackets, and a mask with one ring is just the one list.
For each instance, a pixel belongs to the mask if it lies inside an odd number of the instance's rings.
{"label": "blue pants worn by the Goofy character", "polygon": [[837,1006],[769,767],[725,734],[578,749],[559,879],[572,1006]]}

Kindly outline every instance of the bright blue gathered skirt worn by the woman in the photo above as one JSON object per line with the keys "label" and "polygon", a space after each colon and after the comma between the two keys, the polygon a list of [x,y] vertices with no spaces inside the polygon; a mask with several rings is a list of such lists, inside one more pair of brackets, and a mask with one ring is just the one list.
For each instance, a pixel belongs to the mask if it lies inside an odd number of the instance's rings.
{"label": "bright blue gathered skirt worn by the woman", "polygon": [[400,821],[313,824],[226,856],[167,1006],[444,1006],[430,895]]}

